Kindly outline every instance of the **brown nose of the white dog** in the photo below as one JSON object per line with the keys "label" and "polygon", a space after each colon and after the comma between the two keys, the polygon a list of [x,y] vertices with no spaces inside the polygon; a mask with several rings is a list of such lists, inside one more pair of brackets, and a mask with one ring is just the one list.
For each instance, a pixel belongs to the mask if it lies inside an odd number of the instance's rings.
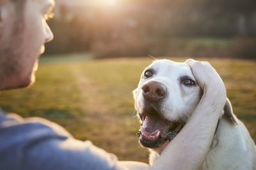
{"label": "brown nose of the white dog", "polygon": [[163,83],[157,81],[149,81],[148,83],[145,83],[141,89],[143,90],[142,94],[145,99],[151,101],[159,101],[166,96],[167,88],[165,85],[163,85]]}

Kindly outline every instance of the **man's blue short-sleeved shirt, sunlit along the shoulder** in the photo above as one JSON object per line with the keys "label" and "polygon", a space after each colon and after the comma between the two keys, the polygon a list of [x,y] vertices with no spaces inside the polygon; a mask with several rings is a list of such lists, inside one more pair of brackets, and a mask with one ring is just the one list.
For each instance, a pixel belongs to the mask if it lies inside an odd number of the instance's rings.
{"label": "man's blue short-sleeved shirt, sunlit along the shoulder", "polygon": [[123,169],[117,162],[115,155],[72,138],[60,125],[0,113],[1,170]]}

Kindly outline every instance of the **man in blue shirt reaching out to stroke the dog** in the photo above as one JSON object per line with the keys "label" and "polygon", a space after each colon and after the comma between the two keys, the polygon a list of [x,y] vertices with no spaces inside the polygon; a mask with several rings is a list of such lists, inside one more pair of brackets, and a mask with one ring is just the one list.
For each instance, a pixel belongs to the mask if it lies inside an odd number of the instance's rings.
{"label": "man in blue shirt reaching out to stroke the dog", "polygon": [[[53,5],[53,0],[0,0],[0,91],[35,81],[38,56],[53,37],[45,21]],[[0,111],[0,169],[198,169],[211,145],[226,93],[220,76],[207,62],[187,62],[204,96],[154,165],[118,161],[52,122]],[[212,108],[213,103],[223,107]]]}

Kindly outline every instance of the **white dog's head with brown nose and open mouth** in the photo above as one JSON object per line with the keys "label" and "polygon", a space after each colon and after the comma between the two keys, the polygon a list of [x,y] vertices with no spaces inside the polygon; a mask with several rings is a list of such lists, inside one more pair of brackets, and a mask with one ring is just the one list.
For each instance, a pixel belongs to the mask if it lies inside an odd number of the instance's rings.
{"label": "white dog's head with brown nose and open mouth", "polygon": [[202,90],[185,62],[156,60],[141,74],[133,91],[141,121],[141,145],[160,148],[171,141],[195,111]]}

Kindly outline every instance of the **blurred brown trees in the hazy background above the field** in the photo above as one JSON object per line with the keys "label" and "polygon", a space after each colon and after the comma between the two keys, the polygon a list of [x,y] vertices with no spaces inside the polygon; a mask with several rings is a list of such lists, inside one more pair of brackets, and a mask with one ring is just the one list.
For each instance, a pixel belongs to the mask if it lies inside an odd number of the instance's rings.
{"label": "blurred brown trees in the hazy background above the field", "polygon": [[140,0],[116,6],[59,0],[49,25],[55,39],[48,53],[256,57],[255,0]]}

